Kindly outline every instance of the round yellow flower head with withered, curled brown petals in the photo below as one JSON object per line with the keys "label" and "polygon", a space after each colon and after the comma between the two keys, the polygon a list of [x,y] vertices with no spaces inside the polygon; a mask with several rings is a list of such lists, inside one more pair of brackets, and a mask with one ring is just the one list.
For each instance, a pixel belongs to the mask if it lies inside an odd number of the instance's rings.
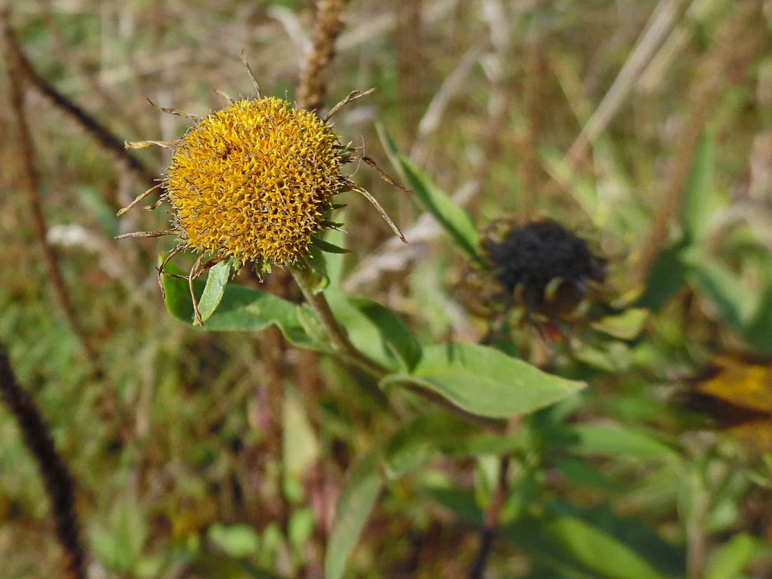
{"label": "round yellow flower head with withered, curled brown petals", "polygon": [[[337,228],[329,215],[333,199],[341,191],[364,195],[405,241],[378,201],[350,181],[343,166],[364,161],[391,185],[400,187],[370,157],[341,145],[328,122],[340,107],[372,90],[350,93],[326,116],[319,117],[285,100],[261,97],[243,55],[242,62],[255,86],[255,98],[231,100],[229,106],[203,118],[156,107],[189,117],[195,125],[177,141],[126,144],[129,148],[160,145],[173,149],[174,154],[161,182],[144,191],[118,215],[160,190],[161,198],[146,208],[168,201],[174,217],[168,231],[127,233],[118,239],[177,236],[178,244],[158,268],[159,284],[161,274],[172,275],[164,273],[164,266],[175,254],[198,252],[198,259],[185,276],[198,323],[203,320],[193,281],[204,269],[231,259],[236,270],[251,262],[258,273],[265,273],[272,265],[302,261],[317,234]],[[204,261],[205,256],[208,261]]]}

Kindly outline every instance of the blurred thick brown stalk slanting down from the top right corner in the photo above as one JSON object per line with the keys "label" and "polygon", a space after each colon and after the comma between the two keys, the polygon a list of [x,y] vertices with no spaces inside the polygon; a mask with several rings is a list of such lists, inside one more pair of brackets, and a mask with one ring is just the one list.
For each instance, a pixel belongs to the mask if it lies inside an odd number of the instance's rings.
{"label": "blurred thick brown stalk slanting down from the top right corner", "polygon": [[635,286],[645,283],[648,270],[669,240],[669,229],[681,207],[694,151],[723,80],[728,73],[736,76],[753,62],[753,55],[763,46],[766,36],[760,2],[755,0],[737,2],[716,32],[713,50],[700,67],[700,79],[689,97],[692,114],[675,146],[677,156],[633,272]]}

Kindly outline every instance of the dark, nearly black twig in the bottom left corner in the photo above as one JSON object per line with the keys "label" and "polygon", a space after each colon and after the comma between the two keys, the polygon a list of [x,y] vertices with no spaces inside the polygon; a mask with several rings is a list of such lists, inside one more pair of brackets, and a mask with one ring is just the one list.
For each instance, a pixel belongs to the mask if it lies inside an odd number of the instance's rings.
{"label": "dark, nearly black twig in the bottom left corner", "polygon": [[29,392],[16,382],[5,347],[0,345],[0,398],[14,415],[24,444],[35,456],[51,501],[56,539],[66,557],[66,576],[86,579],[86,556],[80,543],[75,511],[75,481],[62,457],[56,452],[46,421]]}

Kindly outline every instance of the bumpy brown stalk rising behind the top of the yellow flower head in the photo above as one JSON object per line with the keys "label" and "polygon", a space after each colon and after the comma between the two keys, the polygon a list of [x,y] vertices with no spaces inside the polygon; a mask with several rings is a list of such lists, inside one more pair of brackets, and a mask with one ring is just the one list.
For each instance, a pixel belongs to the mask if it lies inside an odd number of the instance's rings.
{"label": "bumpy brown stalk rising behind the top of the yellow flower head", "polygon": [[335,41],[342,24],[340,13],[347,0],[320,0],[317,5],[317,21],[313,32],[313,50],[300,75],[297,103],[306,110],[319,112],[327,95],[325,73],[335,55]]}

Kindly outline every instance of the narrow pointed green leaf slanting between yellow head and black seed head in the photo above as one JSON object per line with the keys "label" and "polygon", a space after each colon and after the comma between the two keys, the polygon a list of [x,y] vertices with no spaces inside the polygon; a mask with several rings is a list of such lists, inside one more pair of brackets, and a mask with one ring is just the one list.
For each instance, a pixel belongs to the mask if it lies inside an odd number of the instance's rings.
{"label": "narrow pointed green leaf slanting between yellow head and black seed head", "polygon": [[408,157],[398,151],[397,145],[381,126],[378,127],[378,135],[391,164],[408,182],[425,210],[434,216],[469,259],[484,265],[477,253],[479,233],[469,214],[408,161]]}

